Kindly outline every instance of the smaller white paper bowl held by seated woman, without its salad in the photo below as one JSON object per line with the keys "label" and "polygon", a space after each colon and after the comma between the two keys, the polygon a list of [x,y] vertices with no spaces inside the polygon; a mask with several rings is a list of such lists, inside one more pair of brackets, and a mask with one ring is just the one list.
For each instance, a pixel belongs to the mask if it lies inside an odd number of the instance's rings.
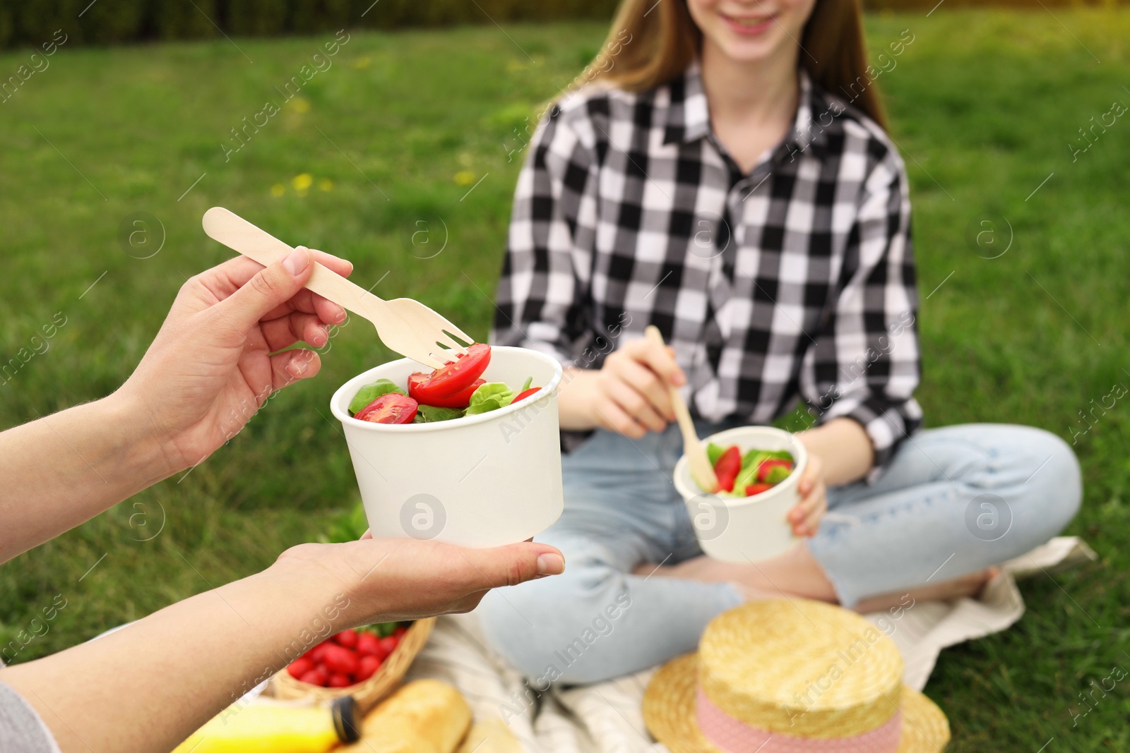
{"label": "smaller white paper bowl held by seated woman, without its salad", "polygon": [[792,453],[796,461],[789,478],[759,494],[745,498],[719,497],[703,491],[690,478],[686,456],[675,465],[675,488],[686,500],[695,536],[703,552],[725,562],[758,562],[797,545],[789,515],[799,499],[797,484],[808,465],[805,446],[788,431],[773,427],[738,427],[703,440],[722,447]]}

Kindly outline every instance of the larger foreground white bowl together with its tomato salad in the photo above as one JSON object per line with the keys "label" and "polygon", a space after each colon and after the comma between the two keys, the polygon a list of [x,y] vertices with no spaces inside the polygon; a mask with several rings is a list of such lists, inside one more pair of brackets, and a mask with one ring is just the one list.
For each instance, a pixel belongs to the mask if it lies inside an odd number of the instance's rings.
{"label": "larger foreground white bowl together with its tomato salad", "polygon": [[564,507],[562,365],[525,348],[473,344],[434,371],[410,359],[346,382],[330,400],[373,536],[501,546]]}

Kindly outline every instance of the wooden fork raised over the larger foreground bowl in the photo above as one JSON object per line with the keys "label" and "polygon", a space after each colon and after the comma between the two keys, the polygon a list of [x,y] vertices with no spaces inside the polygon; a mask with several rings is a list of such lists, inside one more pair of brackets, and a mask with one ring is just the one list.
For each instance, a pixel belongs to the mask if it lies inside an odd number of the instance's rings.
{"label": "wooden fork raised over the larger foreground bowl", "polygon": [[[223,207],[212,207],[205,212],[203,227],[208,237],[263,265],[273,264],[294,251]],[[372,322],[390,350],[434,369],[466,352],[454,338],[468,344],[475,342],[424,304],[411,298],[384,300],[316,262],[306,287]]]}

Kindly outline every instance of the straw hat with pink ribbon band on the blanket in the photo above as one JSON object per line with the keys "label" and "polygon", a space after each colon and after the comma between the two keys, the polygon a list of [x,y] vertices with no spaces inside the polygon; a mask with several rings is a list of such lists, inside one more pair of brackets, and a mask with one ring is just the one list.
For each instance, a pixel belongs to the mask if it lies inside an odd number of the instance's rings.
{"label": "straw hat with pink ribbon band on the blanket", "polygon": [[655,673],[643,717],[671,753],[940,753],[949,723],[902,674],[894,641],[854,612],[754,602]]}

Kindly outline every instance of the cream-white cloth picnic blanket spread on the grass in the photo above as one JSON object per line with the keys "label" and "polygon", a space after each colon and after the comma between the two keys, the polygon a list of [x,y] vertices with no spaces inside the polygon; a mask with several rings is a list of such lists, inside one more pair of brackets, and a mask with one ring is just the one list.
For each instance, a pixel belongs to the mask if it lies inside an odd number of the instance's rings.
{"label": "cream-white cloth picnic blanket spread on the grass", "polygon": [[[919,602],[898,616],[866,615],[898,646],[903,681],[925,686],[941,649],[1005,630],[1024,614],[1017,577],[1038,576],[1086,560],[1095,553],[1075,536],[1060,536],[1005,564],[979,599]],[[435,677],[467,697],[480,725],[494,730],[476,741],[478,753],[663,752],[643,725],[641,703],[654,669],[574,688],[551,686],[540,697],[484,642],[475,613],[441,618],[408,680]],[[464,750],[469,746],[464,746]]]}

